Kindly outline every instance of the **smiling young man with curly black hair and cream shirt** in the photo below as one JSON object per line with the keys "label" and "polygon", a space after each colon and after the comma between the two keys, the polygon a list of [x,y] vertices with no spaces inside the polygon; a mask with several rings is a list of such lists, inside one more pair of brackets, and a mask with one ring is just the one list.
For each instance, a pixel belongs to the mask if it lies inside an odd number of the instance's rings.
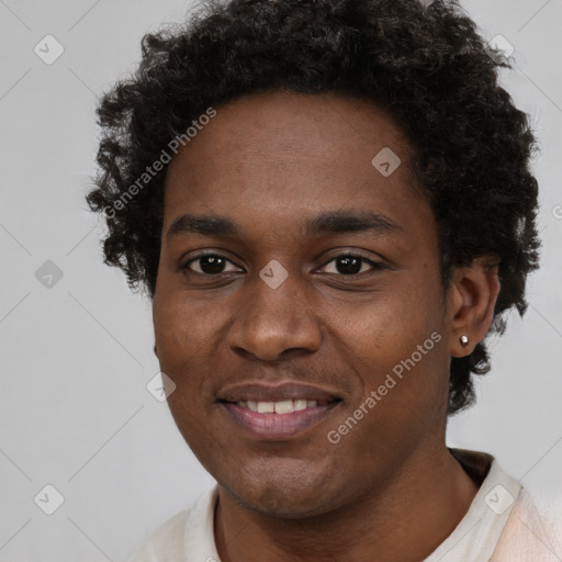
{"label": "smiling young man with curly black hair and cream shirt", "polygon": [[217,485],[132,561],[559,560],[445,440],[538,266],[498,64],[441,1],[234,0],[145,37],[88,201]]}

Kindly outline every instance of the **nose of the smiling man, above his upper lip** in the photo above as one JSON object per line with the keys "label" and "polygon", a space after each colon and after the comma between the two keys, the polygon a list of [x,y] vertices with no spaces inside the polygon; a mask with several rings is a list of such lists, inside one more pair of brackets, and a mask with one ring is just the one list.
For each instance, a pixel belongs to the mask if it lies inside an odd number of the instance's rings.
{"label": "nose of the smiling man, above his upper lip", "polygon": [[246,291],[228,333],[231,349],[261,361],[319,349],[322,331],[295,276],[289,276],[277,289],[257,277]]}

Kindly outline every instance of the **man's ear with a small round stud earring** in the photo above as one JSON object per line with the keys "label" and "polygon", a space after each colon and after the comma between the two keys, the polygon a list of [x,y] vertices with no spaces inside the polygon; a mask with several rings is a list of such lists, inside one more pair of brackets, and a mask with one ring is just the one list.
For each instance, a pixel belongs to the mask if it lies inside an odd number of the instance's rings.
{"label": "man's ear with a small round stud earring", "polygon": [[[497,268],[497,256],[481,256],[468,267],[453,269],[448,293],[452,357],[470,356],[486,337],[499,294]],[[461,344],[461,336],[469,338],[468,345]]]}

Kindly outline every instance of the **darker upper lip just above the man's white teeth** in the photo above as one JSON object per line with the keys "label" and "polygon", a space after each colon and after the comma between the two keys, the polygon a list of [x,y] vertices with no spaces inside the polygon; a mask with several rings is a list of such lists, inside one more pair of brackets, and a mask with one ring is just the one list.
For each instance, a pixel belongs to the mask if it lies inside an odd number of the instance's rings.
{"label": "darker upper lip just above the man's white teeth", "polygon": [[337,391],[293,381],[274,385],[262,382],[233,384],[223,389],[217,396],[220,401],[226,402],[248,400],[255,402],[282,402],[299,398],[331,402],[341,400]]}

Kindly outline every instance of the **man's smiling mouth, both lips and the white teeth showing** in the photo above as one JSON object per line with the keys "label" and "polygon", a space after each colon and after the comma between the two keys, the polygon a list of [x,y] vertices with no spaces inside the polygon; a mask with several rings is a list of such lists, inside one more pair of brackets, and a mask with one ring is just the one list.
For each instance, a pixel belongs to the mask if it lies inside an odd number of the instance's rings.
{"label": "man's smiling mouth, both lips and the white teeth showing", "polygon": [[341,397],[317,386],[285,383],[238,385],[223,391],[217,403],[245,437],[279,441],[318,426]]}

